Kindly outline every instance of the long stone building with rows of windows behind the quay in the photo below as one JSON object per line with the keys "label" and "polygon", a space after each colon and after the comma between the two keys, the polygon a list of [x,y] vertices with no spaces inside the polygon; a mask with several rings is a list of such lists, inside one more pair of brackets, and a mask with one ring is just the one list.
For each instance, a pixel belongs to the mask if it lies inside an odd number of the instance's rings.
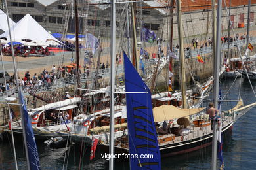
{"label": "long stone building with rows of windows behind the quay", "polygon": [[[39,24],[41,24],[47,31],[52,33],[63,33],[67,29],[68,33],[75,33],[74,22],[74,8],[70,4],[70,0],[6,0],[9,15],[18,22],[23,16],[29,13]],[[236,0],[235,0],[236,1]],[[208,1],[191,1],[198,5],[204,3],[205,7],[195,7],[191,4],[185,4],[187,1],[182,1],[184,9],[182,11],[182,25],[184,37],[191,37],[193,35],[203,35],[211,33],[212,31],[212,12],[211,5]],[[240,1],[232,4],[231,20],[234,28],[247,25],[247,5],[246,3],[239,3]],[[78,1],[79,13],[79,32],[90,32],[96,36],[110,36],[110,5],[106,3],[98,3],[98,1]],[[125,26],[126,11],[124,4],[117,4],[116,7],[116,25],[117,36],[121,37],[121,28]],[[137,3],[137,33],[140,32],[140,25],[144,25],[148,29],[155,31],[158,37],[166,39],[167,30],[169,30],[169,10],[167,1],[144,1]],[[193,6],[194,8],[189,8]],[[155,7],[155,8],[152,8]],[[68,9],[68,10],[67,10]],[[256,4],[251,5],[250,20],[251,25],[255,25],[255,11]],[[129,13],[129,16],[131,14]],[[226,10],[223,7],[223,30],[228,29],[228,17]],[[130,20],[131,27],[131,20]],[[174,9],[174,38],[177,38],[177,16]]]}

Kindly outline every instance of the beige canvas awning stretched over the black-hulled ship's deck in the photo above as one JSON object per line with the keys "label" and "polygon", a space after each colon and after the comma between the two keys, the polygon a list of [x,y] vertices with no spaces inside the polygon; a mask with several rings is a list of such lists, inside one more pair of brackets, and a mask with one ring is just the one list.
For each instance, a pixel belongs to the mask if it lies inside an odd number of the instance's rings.
{"label": "beige canvas awning stretched over the black-hulled ship's deck", "polygon": [[205,109],[205,107],[193,109],[179,109],[173,105],[161,105],[160,107],[154,107],[153,109],[154,121],[161,122],[164,120],[182,118],[201,112],[203,109]]}

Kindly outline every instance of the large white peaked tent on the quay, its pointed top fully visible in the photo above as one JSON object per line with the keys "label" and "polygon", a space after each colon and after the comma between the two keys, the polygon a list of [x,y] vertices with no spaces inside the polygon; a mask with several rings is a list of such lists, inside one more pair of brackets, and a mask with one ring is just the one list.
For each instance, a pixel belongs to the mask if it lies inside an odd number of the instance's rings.
{"label": "large white peaked tent on the quay, its pointed top fully visible", "polygon": [[[38,24],[30,14],[26,14],[17,24],[11,28],[12,41],[29,39],[32,41],[46,42],[54,40],[61,43],[53,35],[49,34],[40,24]],[[9,31],[6,31],[0,38],[5,37],[10,41]]]}

